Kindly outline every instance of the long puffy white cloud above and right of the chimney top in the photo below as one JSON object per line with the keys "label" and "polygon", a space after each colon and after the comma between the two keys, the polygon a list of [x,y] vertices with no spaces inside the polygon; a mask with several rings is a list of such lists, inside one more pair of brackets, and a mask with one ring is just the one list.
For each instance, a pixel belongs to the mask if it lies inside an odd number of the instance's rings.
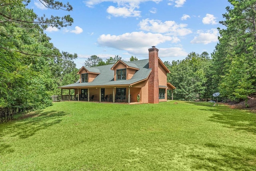
{"label": "long puffy white cloud above and right of the chimney top", "polygon": [[177,24],[174,21],[162,22],[160,20],[149,20],[147,18],[140,21],[139,26],[140,30],[155,33],[166,33],[175,36],[186,36],[187,34],[192,33],[190,29],[186,28],[187,24]]}

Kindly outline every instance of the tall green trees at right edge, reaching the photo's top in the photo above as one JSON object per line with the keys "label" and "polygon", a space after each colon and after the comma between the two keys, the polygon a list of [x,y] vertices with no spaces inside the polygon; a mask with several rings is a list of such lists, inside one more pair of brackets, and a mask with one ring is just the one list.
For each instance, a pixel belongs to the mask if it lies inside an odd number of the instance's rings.
{"label": "tall green trees at right edge, reaching the photo's top", "polygon": [[[256,92],[256,1],[229,0],[220,22],[219,43],[212,55],[214,82],[222,96],[233,101],[245,100]],[[246,104],[247,105],[247,104]]]}

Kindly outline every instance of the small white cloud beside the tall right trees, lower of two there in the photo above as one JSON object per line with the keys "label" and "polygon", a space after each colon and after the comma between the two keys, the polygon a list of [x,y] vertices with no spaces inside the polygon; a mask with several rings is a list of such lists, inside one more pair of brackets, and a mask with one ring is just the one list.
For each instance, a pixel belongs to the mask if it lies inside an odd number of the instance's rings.
{"label": "small white cloud beside the tall right trees, lower of two there", "polygon": [[190,42],[192,44],[209,44],[212,42],[218,42],[218,30],[211,29],[203,32],[202,30],[198,30],[198,36],[195,36],[194,39]]}

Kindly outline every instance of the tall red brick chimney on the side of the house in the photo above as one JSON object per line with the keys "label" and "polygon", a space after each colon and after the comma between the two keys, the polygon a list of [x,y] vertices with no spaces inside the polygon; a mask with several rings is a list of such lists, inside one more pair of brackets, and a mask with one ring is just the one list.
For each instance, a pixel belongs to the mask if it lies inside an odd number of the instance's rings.
{"label": "tall red brick chimney on the side of the house", "polygon": [[158,82],[158,49],[155,46],[148,49],[149,68],[152,69],[148,78],[148,103],[159,103]]}

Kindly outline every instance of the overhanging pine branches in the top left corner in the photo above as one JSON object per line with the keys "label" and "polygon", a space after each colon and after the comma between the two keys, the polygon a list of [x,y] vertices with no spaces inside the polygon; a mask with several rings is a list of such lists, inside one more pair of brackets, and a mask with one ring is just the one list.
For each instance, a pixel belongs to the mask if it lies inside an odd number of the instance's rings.
{"label": "overhanging pine branches in the top left corner", "polygon": [[[50,18],[46,15],[38,16],[33,12],[33,10],[25,9],[25,7],[30,3],[31,0],[1,0],[0,2],[0,16],[1,22],[8,22],[16,24],[16,26],[29,28],[31,24],[41,26],[46,29],[48,26],[61,28],[66,26],[71,26],[73,23],[73,18],[70,15],[65,15],[63,17],[51,16]],[[71,11],[73,7],[67,3],[63,4],[56,0],[39,0],[46,8],[52,10],[65,10]],[[18,10],[21,10],[19,15],[16,15]],[[28,12],[30,15],[23,17],[22,12]]]}

